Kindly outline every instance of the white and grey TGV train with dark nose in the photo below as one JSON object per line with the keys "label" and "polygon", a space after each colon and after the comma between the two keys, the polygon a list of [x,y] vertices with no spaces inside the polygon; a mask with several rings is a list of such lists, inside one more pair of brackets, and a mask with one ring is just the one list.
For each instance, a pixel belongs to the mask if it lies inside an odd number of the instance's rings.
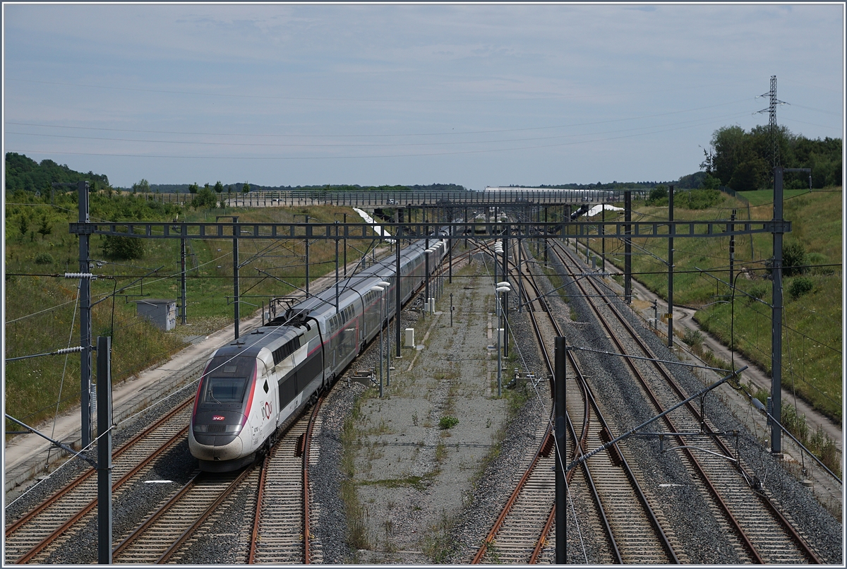
{"label": "white and grey TGV train with dark nose", "polygon": [[[438,241],[433,235],[429,245]],[[429,254],[430,271],[445,256],[447,246],[448,241],[442,241]],[[424,240],[401,250],[403,304],[424,283],[424,250]],[[371,290],[380,281],[390,283],[388,290]],[[317,400],[379,334],[396,312],[397,285],[396,257],[391,256],[340,280],[338,310],[334,284],[214,351],[197,386],[188,434],[188,447],[201,470],[235,470],[273,445],[302,407]]]}

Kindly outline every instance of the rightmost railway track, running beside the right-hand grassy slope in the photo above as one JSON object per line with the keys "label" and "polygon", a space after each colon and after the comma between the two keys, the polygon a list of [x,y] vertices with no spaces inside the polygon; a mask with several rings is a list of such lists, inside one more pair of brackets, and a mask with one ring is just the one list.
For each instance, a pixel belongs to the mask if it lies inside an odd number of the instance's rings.
{"label": "rightmost railway track, running beside the right-hand grassy slope", "polygon": [[[684,390],[665,365],[656,361],[656,355],[623,318],[623,314],[611,302],[601,307],[593,300],[610,291],[601,290],[595,279],[577,279],[574,267],[579,267],[579,263],[561,244],[556,243],[553,251],[567,267],[575,285],[606,329],[614,349],[618,353],[650,358],[650,362],[623,358],[652,406],[650,411],[656,414],[663,412],[685,399]],[[607,323],[609,321],[614,324]],[[730,540],[739,560],[747,563],[821,562],[789,519],[772,503],[767,490],[759,487],[744,461],[734,456],[733,450],[708,417],[694,405],[689,404],[685,409],[686,413],[675,412],[673,418],[664,417],[667,438],[683,452],[684,467],[706,494],[711,511],[722,527],[722,534]],[[695,450],[698,451],[696,456]],[[751,485],[756,487],[755,491],[750,489]]]}

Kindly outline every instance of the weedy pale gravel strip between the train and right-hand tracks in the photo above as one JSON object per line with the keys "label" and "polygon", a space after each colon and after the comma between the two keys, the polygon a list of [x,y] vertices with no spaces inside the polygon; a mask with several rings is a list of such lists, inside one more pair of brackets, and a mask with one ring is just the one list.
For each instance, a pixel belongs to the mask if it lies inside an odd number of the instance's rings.
{"label": "weedy pale gravel strip between the train and right-hand tracks", "polygon": [[[436,306],[446,312],[403,324],[415,329],[418,345],[391,357],[396,369],[383,398],[373,387],[360,401],[356,484],[369,549],[355,561],[432,562],[437,533],[468,503],[474,474],[502,436],[507,399],[497,397],[496,352],[488,349],[496,339],[494,287],[490,277],[470,277],[478,272],[472,265],[445,283]],[[366,356],[376,365],[373,356],[378,346]],[[503,377],[507,383],[512,375]],[[457,423],[441,428],[444,417]]]}

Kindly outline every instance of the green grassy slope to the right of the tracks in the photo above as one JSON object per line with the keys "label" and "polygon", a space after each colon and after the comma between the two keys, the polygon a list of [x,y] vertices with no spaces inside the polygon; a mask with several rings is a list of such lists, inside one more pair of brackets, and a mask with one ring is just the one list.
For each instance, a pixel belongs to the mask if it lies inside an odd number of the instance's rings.
{"label": "green grassy slope to the right of the tracks", "polygon": [[[729,196],[706,210],[674,208],[674,218],[771,219],[772,191],[745,192],[750,207]],[[840,422],[842,407],[842,191],[786,191],[783,218],[792,222],[784,246],[805,248],[805,273],[783,279],[783,386]],[[606,220],[612,215],[606,213]],[[623,220],[623,216],[620,217]],[[634,221],[667,220],[667,207],[634,204]],[[650,290],[667,298],[667,240],[634,239],[633,272]],[[599,243],[591,244],[595,251]],[[729,238],[674,240],[674,303],[700,308],[696,320],[725,344],[770,373],[771,290],[767,259],[772,235],[739,235],[735,240],[737,292],[728,285]],[[606,243],[606,255],[623,268],[623,244]],[[658,258],[656,258],[658,257]],[[701,269],[701,270],[700,270]],[[811,290],[796,298],[798,279]],[[744,294],[746,293],[746,294]]]}

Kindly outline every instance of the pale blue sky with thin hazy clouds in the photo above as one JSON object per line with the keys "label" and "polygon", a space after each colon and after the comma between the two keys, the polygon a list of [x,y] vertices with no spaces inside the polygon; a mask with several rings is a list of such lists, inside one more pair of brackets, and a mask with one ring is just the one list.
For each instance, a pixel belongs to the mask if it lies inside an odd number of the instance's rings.
{"label": "pale blue sky with thin hazy clouds", "polygon": [[677,180],[843,138],[844,4],[3,3],[3,150],[152,184]]}

